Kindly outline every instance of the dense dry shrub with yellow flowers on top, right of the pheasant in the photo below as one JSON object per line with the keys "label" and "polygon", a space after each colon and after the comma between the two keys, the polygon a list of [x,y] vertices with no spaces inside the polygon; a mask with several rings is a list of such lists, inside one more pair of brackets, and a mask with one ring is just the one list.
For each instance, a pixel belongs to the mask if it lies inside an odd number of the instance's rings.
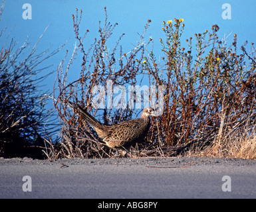
{"label": "dense dry shrub with yellow flowers on top, right of the pheasant", "polygon": [[[180,42],[182,22],[164,22],[166,39],[160,38],[164,56],[157,61],[152,50],[144,65],[150,83],[166,87],[164,114],[154,119],[151,133],[158,132],[160,139],[155,139],[165,146],[177,147],[172,155],[218,144],[227,129],[245,129],[247,123],[255,123],[256,115],[254,44],[249,53],[245,50],[247,42],[239,51],[236,34],[228,46],[226,39],[217,36],[219,26],[212,25],[212,32],[195,34],[193,54],[192,37],[186,40],[186,48]],[[164,151],[169,152],[170,148]]]}

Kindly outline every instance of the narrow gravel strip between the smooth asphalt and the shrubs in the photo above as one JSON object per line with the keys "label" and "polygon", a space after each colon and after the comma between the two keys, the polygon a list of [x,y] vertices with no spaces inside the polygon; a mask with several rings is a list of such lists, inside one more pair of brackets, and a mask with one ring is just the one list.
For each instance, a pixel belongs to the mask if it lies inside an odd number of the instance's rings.
{"label": "narrow gravel strip between the smooth asphalt and the shrubs", "polygon": [[241,158],[211,158],[211,157],[171,157],[171,158],[64,158],[59,160],[33,160],[32,158],[0,158],[0,166],[8,164],[86,164],[86,165],[145,165],[145,166],[199,166],[209,164],[232,164],[233,166],[255,166],[256,160]]}

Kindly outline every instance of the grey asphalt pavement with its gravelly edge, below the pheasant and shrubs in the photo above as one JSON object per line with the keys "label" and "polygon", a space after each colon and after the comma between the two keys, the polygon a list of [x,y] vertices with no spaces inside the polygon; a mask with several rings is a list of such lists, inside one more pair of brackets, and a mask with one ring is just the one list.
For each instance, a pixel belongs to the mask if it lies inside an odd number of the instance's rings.
{"label": "grey asphalt pavement with its gravelly edge, below the pheasant and shrubs", "polygon": [[256,160],[0,158],[0,198],[255,198]]}

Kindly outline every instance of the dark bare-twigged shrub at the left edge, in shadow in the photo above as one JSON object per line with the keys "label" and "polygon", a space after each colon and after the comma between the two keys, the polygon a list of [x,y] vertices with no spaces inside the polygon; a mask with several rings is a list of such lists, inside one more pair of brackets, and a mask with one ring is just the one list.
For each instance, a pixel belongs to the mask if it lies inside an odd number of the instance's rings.
{"label": "dark bare-twigged shrub at the left edge, in shadow", "polygon": [[47,97],[39,89],[51,73],[41,74],[48,67],[38,66],[59,49],[37,54],[37,44],[29,51],[28,40],[17,47],[12,39],[7,45],[8,40],[0,50],[0,156],[45,158],[44,137],[51,136],[56,126],[49,121]]}

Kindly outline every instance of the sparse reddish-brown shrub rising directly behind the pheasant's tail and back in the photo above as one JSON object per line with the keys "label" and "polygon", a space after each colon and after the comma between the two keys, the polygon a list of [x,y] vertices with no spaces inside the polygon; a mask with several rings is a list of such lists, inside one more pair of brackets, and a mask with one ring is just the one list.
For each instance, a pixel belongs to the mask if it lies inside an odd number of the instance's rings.
{"label": "sparse reddish-brown shrub rising directly behind the pheasant's tail and back", "polygon": [[[138,44],[130,52],[123,53],[122,47],[119,45],[124,34],[117,40],[114,48],[108,47],[108,39],[118,24],[108,23],[106,9],[105,15],[104,26],[101,26],[101,23],[99,26],[99,38],[95,38],[94,43],[87,50],[84,38],[89,30],[86,30],[84,36],[80,36],[79,24],[82,19],[82,11],[79,15],[76,9],[76,15],[72,15],[78,45],[75,46],[66,68],[64,68],[66,58],[61,62],[55,81],[53,99],[62,125],[61,141],[53,148],[55,153],[49,153],[55,158],[104,158],[112,154],[112,150],[105,148],[92,128],[76,115],[76,109],[73,111],[68,107],[66,100],[82,105],[88,113],[106,125],[131,119],[133,113],[136,113],[134,107],[131,109],[128,104],[124,105],[123,98],[126,96],[115,99],[112,107],[109,106],[107,97],[114,92],[114,87],[126,89],[128,85],[140,85],[141,81],[138,81],[138,76],[144,75],[140,64],[147,45],[143,38],[149,25],[145,26]],[[118,52],[118,48],[120,48],[120,52]],[[67,83],[70,64],[78,50],[82,52],[80,78]],[[118,105],[122,105],[122,107],[118,108]],[[51,158],[51,156],[49,157]]]}

